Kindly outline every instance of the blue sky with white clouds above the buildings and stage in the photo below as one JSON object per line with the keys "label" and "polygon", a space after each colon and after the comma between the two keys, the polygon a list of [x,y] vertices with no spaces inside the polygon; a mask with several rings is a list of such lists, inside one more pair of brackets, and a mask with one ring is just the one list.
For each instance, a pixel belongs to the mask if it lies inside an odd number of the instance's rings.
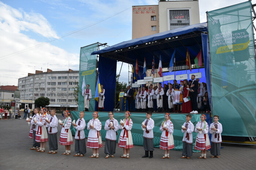
{"label": "blue sky with white clouds above the buildings and stage", "polygon": [[[200,22],[206,22],[206,11],[245,1],[199,0]],[[79,70],[80,47],[131,40],[132,6],[157,4],[158,0],[0,0],[0,85],[17,86],[19,78],[34,70]],[[60,38],[80,28],[84,29]],[[120,67],[118,62],[117,74]],[[128,64],[120,75],[120,82],[128,82]]]}

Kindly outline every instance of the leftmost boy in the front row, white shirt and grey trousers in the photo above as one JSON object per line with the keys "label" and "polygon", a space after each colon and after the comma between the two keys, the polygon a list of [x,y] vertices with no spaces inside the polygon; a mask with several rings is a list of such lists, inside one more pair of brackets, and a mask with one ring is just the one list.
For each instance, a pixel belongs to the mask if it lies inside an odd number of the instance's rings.
{"label": "leftmost boy in the front row, white shirt and grey trousers", "polygon": [[38,112],[39,112],[39,108],[35,108],[34,109],[34,113],[35,113],[34,116],[32,117],[32,119],[27,120],[27,122],[31,123],[29,137],[31,139],[33,139],[33,147],[31,147],[30,150],[38,150],[39,147],[40,147],[40,143],[35,141],[35,131],[36,131],[35,127],[36,126],[35,126],[35,123],[34,123],[34,118],[36,120],[39,119],[40,116],[39,116]]}

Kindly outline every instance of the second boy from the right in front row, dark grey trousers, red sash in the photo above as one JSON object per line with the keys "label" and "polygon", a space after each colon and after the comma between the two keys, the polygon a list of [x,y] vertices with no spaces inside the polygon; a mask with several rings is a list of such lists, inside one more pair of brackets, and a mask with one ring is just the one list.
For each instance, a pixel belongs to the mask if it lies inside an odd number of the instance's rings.
{"label": "second boy from the right in front row, dark grey trousers, red sash", "polygon": [[192,116],[190,114],[186,115],[186,122],[183,123],[181,126],[181,131],[184,133],[182,142],[183,142],[183,151],[182,151],[182,157],[180,158],[187,158],[190,159],[190,157],[193,154],[193,131],[194,131],[194,124],[190,121]]}

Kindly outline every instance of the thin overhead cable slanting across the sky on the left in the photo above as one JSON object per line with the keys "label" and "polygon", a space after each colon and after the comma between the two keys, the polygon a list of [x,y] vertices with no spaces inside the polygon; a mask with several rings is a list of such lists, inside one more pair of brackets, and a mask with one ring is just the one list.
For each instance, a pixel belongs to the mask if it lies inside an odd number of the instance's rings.
{"label": "thin overhead cable slanting across the sky on the left", "polygon": [[[41,43],[41,44],[37,44],[36,46],[29,47],[29,48],[26,48],[26,49],[24,49],[24,50],[20,50],[20,51],[17,51],[17,52],[14,52],[14,53],[11,53],[11,54],[8,54],[8,55],[5,55],[5,56],[1,56],[0,58],[3,58],[3,59],[0,59],[0,60],[7,59],[7,58],[9,58],[9,57],[18,55],[18,54],[20,54],[20,53],[23,53],[23,52],[32,50],[32,49],[34,49],[34,48],[43,46],[43,45],[45,45],[45,44],[51,43],[51,42],[56,41],[56,40],[59,40],[59,39],[61,39],[61,38],[63,38],[63,37],[66,37],[66,36],[68,36],[68,35],[71,35],[71,34],[74,34],[74,33],[76,33],[76,32],[82,31],[83,29],[89,28],[89,27],[91,27],[91,26],[93,26],[93,25],[96,25],[96,24],[98,24],[98,23],[101,23],[102,21],[105,21],[105,20],[107,20],[107,19],[109,19],[109,18],[111,18],[111,17],[113,17],[113,16],[116,16],[116,15],[118,15],[118,14],[124,12],[124,11],[127,11],[127,10],[130,9],[130,8],[132,8],[132,7],[129,7],[129,8],[127,8],[127,9],[124,9],[123,11],[117,12],[117,13],[115,13],[115,14],[109,16],[109,17],[106,17],[106,18],[104,18],[104,19],[102,19],[102,20],[99,20],[99,21],[97,21],[97,22],[95,22],[95,23],[92,23],[92,24],[89,24],[89,25],[84,26],[84,27],[82,27],[82,28],[79,28],[79,29],[76,29],[76,30],[74,30],[74,31],[68,32],[68,33],[66,33],[66,34],[64,34],[64,35],[62,35],[62,36],[60,36],[60,37],[58,37],[58,38],[55,38],[55,39],[46,41],[46,42]],[[7,57],[7,56],[8,56],[8,57]],[[4,58],[4,57],[6,57],[6,58]]]}

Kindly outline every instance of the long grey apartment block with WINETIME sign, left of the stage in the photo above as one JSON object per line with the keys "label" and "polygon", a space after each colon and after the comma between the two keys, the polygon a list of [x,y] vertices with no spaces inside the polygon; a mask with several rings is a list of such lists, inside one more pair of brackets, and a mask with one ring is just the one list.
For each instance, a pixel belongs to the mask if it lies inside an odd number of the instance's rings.
{"label": "long grey apartment block with WINETIME sign, left of the stage", "polygon": [[35,71],[27,77],[18,80],[20,91],[20,109],[34,108],[34,100],[47,97],[50,104],[46,107],[55,108],[57,111],[77,110],[74,90],[79,82],[79,71]]}

